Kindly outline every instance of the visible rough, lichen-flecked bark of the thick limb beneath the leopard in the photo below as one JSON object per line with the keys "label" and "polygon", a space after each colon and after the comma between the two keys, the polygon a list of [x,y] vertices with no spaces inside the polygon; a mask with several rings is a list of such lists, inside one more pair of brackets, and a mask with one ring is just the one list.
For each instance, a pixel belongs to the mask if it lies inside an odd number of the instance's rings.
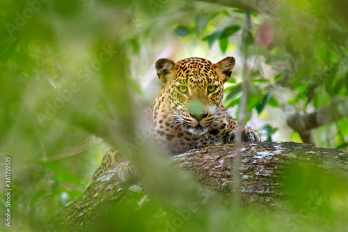
{"label": "visible rough, lichen-flecked bark of the thick limb beneath the leopard", "polygon": [[[280,184],[282,171],[297,161],[313,164],[324,172],[334,171],[345,179],[348,177],[348,153],[340,150],[292,142],[259,142],[241,144],[241,147],[241,194],[246,207],[254,207],[255,204],[266,208],[279,206],[279,196],[283,194]],[[175,155],[171,158],[171,165],[191,173],[200,185],[219,194],[220,202],[228,204],[232,189],[232,163],[236,153],[236,144],[198,148]],[[146,197],[146,187],[120,180],[116,172],[115,168],[106,171],[87,188],[84,196],[56,213],[44,231],[93,231],[89,226],[97,218],[108,215],[113,207],[120,207],[120,204],[129,201],[127,208],[136,210],[139,205],[152,201]],[[145,197],[134,201],[132,196],[139,192]],[[156,224],[157,212],[153,213],[153,217],[147,217],[154,220],[152,224]]]}

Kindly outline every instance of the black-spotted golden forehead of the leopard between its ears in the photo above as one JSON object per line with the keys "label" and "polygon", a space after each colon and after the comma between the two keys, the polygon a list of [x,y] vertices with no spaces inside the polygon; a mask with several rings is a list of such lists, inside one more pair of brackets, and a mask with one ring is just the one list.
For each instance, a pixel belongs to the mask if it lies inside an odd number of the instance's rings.
{"label": "black-spotted golden forehead of the leopard between its ears", "polygon": [[177,77],[213,77],[216,76],[214,63],[199,57],[190,57],[175,64]]}

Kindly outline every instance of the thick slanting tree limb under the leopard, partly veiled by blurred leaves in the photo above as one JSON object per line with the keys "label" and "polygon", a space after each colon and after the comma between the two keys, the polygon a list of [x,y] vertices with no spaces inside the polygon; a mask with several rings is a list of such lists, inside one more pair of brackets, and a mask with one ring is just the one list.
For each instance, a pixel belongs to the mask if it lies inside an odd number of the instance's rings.
{"label": "thick slanting tree limb under the leopard, partly veiled by blurred leaves", "polygon": [[[139,223],[139,220],[145,220],[141,221],[141,226],[146,226],[146,231],[163,231],[159,229],[160,226],[167,226],[167,222],[172,222],[178,212],[187,212],[187,208],[192,204],[196,204],[199,210],[195,211],[196,214],[193,210],[190,212],[191,219],[185,222],[185,225],[190,226],[192,223],[196,226],[195,219],[198,218],[203,220],[200,222],[208,220],[208,224],[214,224],[216,231],[223,231],[219,227],[219,224],[223,225],[223,223],[213,221],[219,217],[212,217],[212,215],[216,216],[216,213],[219,215],[219,212],[225,212],[222,210],[226,210],[226,204],[227,206],[230,204],[230,190],[233,186],[231,170],[233,160],[240,150],[235,145],[203,147],[172,157],[171,166],[181,170],[174,180],[177,183],[176,188],[172,188],[173,179],[158,185],[152,183],[149,187],[147,182],[141,182],[141,185],[136,184],[143,176],[139,176],[136,181],[128,182],[118,178],[117,167],[109,169],[88,187],[84,196],[68,203],[60,210],[44,231],[108,231],[110,228],[113,231],[125,231],[125,228],[132,231],[129,228],[132,228],[132,224]],[[312,165],[313,168],[319,169],[315,171],[316,175],[329,172],[345,180],[348,178],[348,154],[340,150],[296,143],[259,142],[241,145],[243,153],[240,172],[243,178],[239,190],[244,207],[283,207],[282,196],[286,192],[285,186],[281,184],[284,178],[283,172],[293,167],[294,162],[302,161],[308,167]],[[180,195],[180,200],[167,197],[165,203],[161,202],[159,200],[161,195],[175,194],[177,196],[177,193],[184,188],[194,188],[187,172],[191,173],[201,186],[211,190],[212,194],[200,191],[196,194],[196,198]],[[163,176],[164,173],[157,173],[157,175]],[[182,176],[186,176],[184,182],[181,182]],[[296,181],[301,183],[301,180]],[[178,202],[180,204],[184,202],[184,206],[178,208]],[[203,216],[202,212],[206,216]],[[124,220],[130,220],[128,224],[126,223],[126,227],[122,227]]]}

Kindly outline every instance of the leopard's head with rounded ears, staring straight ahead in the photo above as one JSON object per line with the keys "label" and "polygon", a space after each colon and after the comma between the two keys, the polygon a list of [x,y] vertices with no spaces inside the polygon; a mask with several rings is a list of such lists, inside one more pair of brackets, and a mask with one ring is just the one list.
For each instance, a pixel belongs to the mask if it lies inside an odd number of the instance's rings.
{"label": "leopard's head with rounded ears, staring straight ahead", "polygon": [[235,58],[218,63],[187,58],[175,63],[159,59],[155,68],[164,86],[155,102],[155,120],[191,134],[221,127],[225,117],[223,84],[230,78]]}

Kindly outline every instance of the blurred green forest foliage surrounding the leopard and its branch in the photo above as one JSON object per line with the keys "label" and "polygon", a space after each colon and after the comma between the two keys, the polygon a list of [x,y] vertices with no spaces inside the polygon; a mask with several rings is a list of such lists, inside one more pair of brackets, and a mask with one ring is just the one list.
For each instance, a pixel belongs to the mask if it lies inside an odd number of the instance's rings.
{"label": "blurred green forest foliage surrounding the leopard and its branch", "polygon": [[[11,158],[14,226],[1,223],[3,231],[40,231],[82,195],[104,153],[134,137],[136,118],[161,88],[154,67],[160,58],[216,63],[234,56],[224,100],[232,116],[238,118],[247,83],[244,123],[262,140],[302,142],[303,132],[306,142],[347,152],[348,1],[0,0],[0,6],[0,164],[4,170]],[[320,123],[296,132],[292,116],[313,112],[324,112]],[[271,224],[278,225],[274,231],[346,231],[340,218],[347,218],[347,182],[320,186],[335,193],[335,203],[301,223],[293,219],[296,230],[283,228],[276,212],[262,215],[268,222],[248,212],[242,231],[271,231]],[[3,210],[5,201],[2,195]]]}

